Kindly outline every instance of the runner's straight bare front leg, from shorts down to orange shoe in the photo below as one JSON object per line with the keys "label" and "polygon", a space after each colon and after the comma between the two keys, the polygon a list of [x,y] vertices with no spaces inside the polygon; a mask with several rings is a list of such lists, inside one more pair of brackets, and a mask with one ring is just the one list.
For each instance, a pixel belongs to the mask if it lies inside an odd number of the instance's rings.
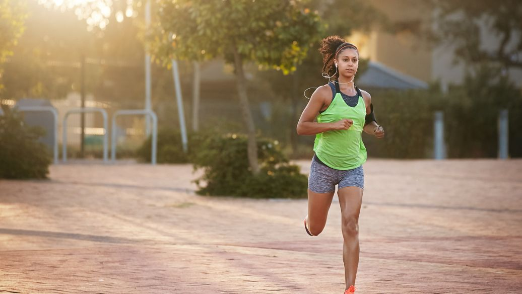
{"label": "runner's straight bare front leg, from shorts down to orange shoe", "polygon": [[344,244],[342,261],[345,264],[346,289],[355,286],[355,276],[359,266],[359,214],[361,212],[363,189],[343,187],[337,191],[341,206],[341,229]]}

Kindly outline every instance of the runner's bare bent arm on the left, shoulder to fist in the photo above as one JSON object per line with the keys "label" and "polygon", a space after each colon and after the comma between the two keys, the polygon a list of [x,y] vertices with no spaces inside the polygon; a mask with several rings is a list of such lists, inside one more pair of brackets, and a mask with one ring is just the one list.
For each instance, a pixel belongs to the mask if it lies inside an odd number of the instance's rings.
{"label": "runner's bare bent arm on the left, shoulder to fist", "polygon": [[328,85],[322,85],[315,90],[297,123],[298,134],[314,135],[331,130],[347,130],[353,125],[353,120],[347,118],[335,123],[317,123],[314,121],[323,105],[325,105],[326,100],[331,99],[330,97],[331,89]]}

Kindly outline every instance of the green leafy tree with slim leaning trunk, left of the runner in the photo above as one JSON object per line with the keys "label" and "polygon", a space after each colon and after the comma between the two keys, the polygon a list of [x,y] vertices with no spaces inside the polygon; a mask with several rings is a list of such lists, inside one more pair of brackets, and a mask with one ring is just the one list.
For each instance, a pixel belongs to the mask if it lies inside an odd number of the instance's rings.
{"label": "green leafy tree with slim leaning trunk, left of the runner", "polygon": [[318,40],[322,23],[304,1],[158,0],[151,36],[155,58],[204,60],[223,57],[237,79],[242,117],[248,134],[248,163],[259,173],[256,131],[248,106],[244,64],[289,73]]}

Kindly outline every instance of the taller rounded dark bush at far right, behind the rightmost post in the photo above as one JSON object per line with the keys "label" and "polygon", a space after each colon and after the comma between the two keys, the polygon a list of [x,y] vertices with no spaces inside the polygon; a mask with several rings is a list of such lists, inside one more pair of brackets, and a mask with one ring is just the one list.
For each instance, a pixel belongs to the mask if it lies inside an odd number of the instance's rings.
{"label": "taller rounded dark bush at far right, behind the rightmost post", "polygon": [[467,76],[461,87],[443,97],[445,140],[449,158],[497,157],[499,112],[508,109],[509,154],[522,153],[522,95],[520,89],[500,71],[481,68],[475,77]]}

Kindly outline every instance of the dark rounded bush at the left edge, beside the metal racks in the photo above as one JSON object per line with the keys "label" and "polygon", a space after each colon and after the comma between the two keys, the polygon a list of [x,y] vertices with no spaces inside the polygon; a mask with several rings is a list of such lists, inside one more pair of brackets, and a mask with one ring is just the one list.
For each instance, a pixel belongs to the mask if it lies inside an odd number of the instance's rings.
{"label": "dark rounded bush at the left edge, beside the metal racks", "polygon": [[51,156],[38,141],[45,135],[41,127],[29,127],[20,113],[2,105],[0,115],[0,178],[47,178]]}

